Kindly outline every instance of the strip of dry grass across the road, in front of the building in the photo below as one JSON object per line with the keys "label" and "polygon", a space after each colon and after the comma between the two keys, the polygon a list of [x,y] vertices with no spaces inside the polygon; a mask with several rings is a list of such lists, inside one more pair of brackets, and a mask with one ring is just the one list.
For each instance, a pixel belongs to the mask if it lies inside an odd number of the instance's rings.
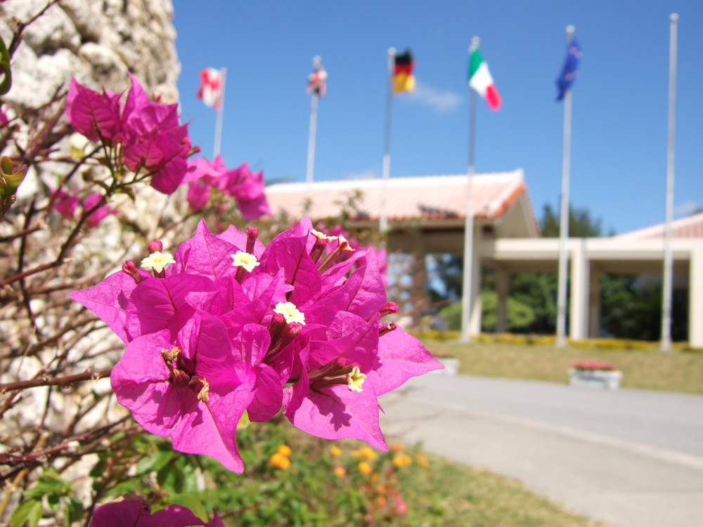
{"label": "strip of dry grass across the road, in front of the building", "polygon": [[[703,394],[701,351],[675,349],[664,353],[654,348],[608,348],[603,343],[593,347],[570,344],[557,349],[554,344],[500,341],[460,344],[451,339],[420,337],[432,353],[458,358],[459,372],[465,375],[568,382],[567,372],[575,360],[599,360],[623,372],[624,388]],[[612,344],[616,345],[617,342]]]}

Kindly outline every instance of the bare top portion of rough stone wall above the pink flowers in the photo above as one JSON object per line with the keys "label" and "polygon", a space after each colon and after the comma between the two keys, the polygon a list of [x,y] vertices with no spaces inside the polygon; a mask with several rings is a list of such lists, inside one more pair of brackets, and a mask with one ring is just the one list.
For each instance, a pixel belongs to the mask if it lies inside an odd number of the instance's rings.
{"label": "bare top portion of rough stone wall above the pink flowers", "polygon": [[[0,35],[12,38],[14,20],[27,22],[49,0],[0,3]],[[181,66],[171,0],[58,0],[22,33],[12,60],[13,86],[4,100],[18,108],[51,100],[71,77],[99,89],[122,91],[132,72],[147,92],[176,102]]]}

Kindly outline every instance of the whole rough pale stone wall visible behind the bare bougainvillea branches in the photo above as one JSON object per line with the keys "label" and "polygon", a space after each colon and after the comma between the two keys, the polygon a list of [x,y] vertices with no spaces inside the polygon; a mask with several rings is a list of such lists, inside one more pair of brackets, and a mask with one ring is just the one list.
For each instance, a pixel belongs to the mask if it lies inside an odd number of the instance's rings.
{"label": "whole rough pale stone wall visible behind the bare bougainvillea branches", "polygon": [[[0,35],[5,43],[10,45],[13,27],[17,27],[18,22],[31,20],[47,5],[49,8],[44,14],[27,25],[22,32],[22,41],[13,54],[12,89],[1,98],[9,107],[4,110],[10,117],[20,115],[22,110],[48,103],[57,92],[68,88],[72,77],[93,89],[105,87],[115,92],[122,91],[129,86],[128,71],[137,77],[148,93],[159,93],[167,103],[178,100],[176,79],[181,67],[176,55],[171,0],[0,0]],[[18,128],[16,140],[22,146],[31,125],[18,120],[19,122],[15,121]],[[76,136],[79,134],[74,134],[73,137]],[[71,144],[72,137],[67,136],[54,146],[65,153],[70,151]],[[13,143],[9,143],[6,152],[10,155],[15,152]],[[56,188],[57,182],[68,170],[66,167],[67,164],[60,162],[32,165],[18,190],[18,201],[11,210],[13,219],[30,199],[38,198],[39,208],[46,206],[47,189]],[[85,181],[88,180],[76,176],[71,184],[82,186]],[[148,186],[141,188],[135,203],[125,195],[113,196],[110,206],[120,211],[119,219],[117,216],[109,216],[101,225],[86,233],[82,242],[72,250],[72,261],[80,262],[85,268],[84,273],[95,275],[97,282],[103,274],[101,271],[98,275],[98,270],[105,266],[105,262],[115,263],[115,268],[108,272],[110,274],[120,268],[122,261],[137,259],[144,251],[144,237],[133,230],[124,229],[124,224],[131,222],[136,225],[141,222],[141,227],[145,229],[157,228],[158,219],[175,214],[174,206],[168,198]],[[33,263],[53,260],[58,252],[57,243],[63,241],[60,236],[67,232],[65,227],[63,231],[60,230],[62,222],[66,221],[58,214],[49,215],[47,222],[47,227],[36,233],[28,243],[32,249]],[[7,220],[0,222],[0,235],[14,233],[16,225],[16,222]],[[148,230],[146,240],[155,238],[152,231]],[[168,240],[166,244],[168,247]],[[37,302],[39,303],[34,307],[40,309],[44,300],[38,299]],[[51,329],[63,323],[63,319],[57,322],[50,316],[37,320],[42,329]],[[0,319],[0,348],[9,342],[18,342],[19,339],[13,336],[17,331],[18,325],[14,320]],[[32,343],[37,338],[33,335]],[[78,353],[77,357],[84,357],[89,355],[88,350],[96,358],[87,360],[71,356],[70,360],[75,360],[73,371],[84,371],[88,367],[96,370],[110,367],[119,358],[119,353],[116,354],[115,350],[120,346],[121,341],[110,330],[97,330],[72,352]],[[35,356],[6,361],[0,368],[0,382],[32,378],[51,360],[56,359],[59,351],[55,347],[49,345]],[[79,415],[81,409],[85,408],[86,401],[90,401],[94,394],[109,392],[109,379],[75,386],[70,391],[52,391],[50,408],[42,422],[45,434],[58,436],[66,423]],[[0,436],[12,436],[17,431],[34,427],[37,408],[44,408],[47,393],[46,387],[25,391],[21,401],[1,419]],[[125,410],[117,406],[114,398],[105,398],[82,418],[79,431],[93,429],[105,422],[116,422],[123,415]],[[86,474],[95,463],[96,455],[84,456],[64,474],[68,481],[74,483],[77,495],[84,503],[89,503],[91,499],[91,480]],[[18,505],[20,493],[11,495],[9,507],[5,509],[4,515],[0,514],[0,523],[3,525]]]}

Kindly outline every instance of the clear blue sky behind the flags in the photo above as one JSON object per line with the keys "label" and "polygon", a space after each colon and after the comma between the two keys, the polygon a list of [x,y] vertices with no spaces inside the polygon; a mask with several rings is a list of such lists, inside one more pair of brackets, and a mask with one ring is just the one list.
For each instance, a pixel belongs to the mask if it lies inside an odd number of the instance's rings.
{"label": "clear blue sky behind the flags", "polygon": [[312,58],[329,74],[315,179],[380,177],[387,49],[411,48],[418,88],[393,101],[391,177],[467,167],[467,49],[480,37],[503,106],[479,100],[476,171],[524,169],[538,216],[558,211],[565,28],[583,48],[573,87],[570,198],[623,233],[665,218],[669,15],[678,13],[676,216],[703,207],[700,0],[174,0],[181,111],[212,156],[215,114],[195,98],[226,67],[222,154],[267,180],[304,181]]}

